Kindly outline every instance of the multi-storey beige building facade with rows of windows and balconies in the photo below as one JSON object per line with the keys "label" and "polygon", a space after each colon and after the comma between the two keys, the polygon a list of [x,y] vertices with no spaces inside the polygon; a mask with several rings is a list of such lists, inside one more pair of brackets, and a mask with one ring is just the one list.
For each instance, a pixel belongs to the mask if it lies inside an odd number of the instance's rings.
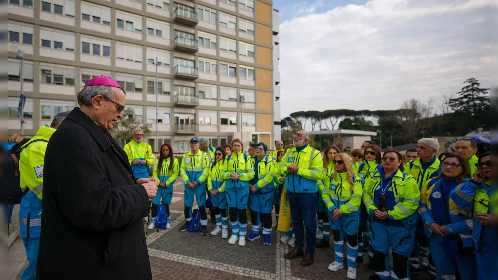
{"label": "multi-storey beige building facade with rows of windows and balconies", "polygon": [[20,132],[22,50],[26,136],[106,75],[125,89],[130,117],[152,124],[154,150],[186,151],[193,136],[219,146],[241,138],[241,128],[245,143],[273,148],[274,17],[269,0],[9,0],[8,132]]}

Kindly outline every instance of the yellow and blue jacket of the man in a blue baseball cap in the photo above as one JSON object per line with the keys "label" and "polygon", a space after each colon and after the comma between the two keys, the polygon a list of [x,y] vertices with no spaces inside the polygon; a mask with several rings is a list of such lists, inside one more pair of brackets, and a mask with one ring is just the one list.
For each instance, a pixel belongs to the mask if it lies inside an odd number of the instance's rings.
{"label": "yellow and blue jacket of the man in a blue baseball cap", "polygon": [[210,162],[206,152],[198,150],[196,154],[193,154],[189,150],[184,153],[180,164],[183,182],[185,184],[188,182],[204,183],[208,179],[209,166]]}

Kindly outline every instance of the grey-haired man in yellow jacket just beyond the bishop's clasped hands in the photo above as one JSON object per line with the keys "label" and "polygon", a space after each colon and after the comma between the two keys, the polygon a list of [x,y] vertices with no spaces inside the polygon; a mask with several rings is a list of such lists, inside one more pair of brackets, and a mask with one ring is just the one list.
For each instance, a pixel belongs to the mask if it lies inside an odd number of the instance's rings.
{"label": "grey-haired man in yellow jacket just beyond the bishop's clasped hands", "polygon": [[150,165],[154,163],[154,154],[152,153],[152,147],[143,141],[141,128],[133,130],[133,140],[125,144],[123,149],[128,156],[135,178],[148,178]]}

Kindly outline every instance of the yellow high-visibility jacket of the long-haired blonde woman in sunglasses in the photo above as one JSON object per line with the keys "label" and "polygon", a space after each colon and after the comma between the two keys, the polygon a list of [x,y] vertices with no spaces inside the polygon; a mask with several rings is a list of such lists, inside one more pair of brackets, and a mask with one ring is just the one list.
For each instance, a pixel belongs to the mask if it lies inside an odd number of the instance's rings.
{"label": "yellow high-visibility jacket of the long-haired blonde woman in sunglasses", "polygon": [[348,181],[348,173],[336,173],[329,183],[329,187],[323,188],[322,198],[327,209],[332,212],[339,209],[343,214],[360,215],[360,204],[362,203],[362,179],[353,175],[353,186]]}

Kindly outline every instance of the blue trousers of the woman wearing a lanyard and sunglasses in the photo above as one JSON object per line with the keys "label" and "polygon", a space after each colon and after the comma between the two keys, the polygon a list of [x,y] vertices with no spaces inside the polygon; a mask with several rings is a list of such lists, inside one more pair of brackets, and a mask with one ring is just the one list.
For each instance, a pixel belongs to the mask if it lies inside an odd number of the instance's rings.
{"label": "blue trousers of the woman wearing a lanyard and sunglasses", "polygon": [[[383,280],[410,277],[408,258],[413,251],[415,229],[394,227],[371,221],[371,243],[375,274]],[[389,265],[389,249],[392,250],[393,265]]]}

